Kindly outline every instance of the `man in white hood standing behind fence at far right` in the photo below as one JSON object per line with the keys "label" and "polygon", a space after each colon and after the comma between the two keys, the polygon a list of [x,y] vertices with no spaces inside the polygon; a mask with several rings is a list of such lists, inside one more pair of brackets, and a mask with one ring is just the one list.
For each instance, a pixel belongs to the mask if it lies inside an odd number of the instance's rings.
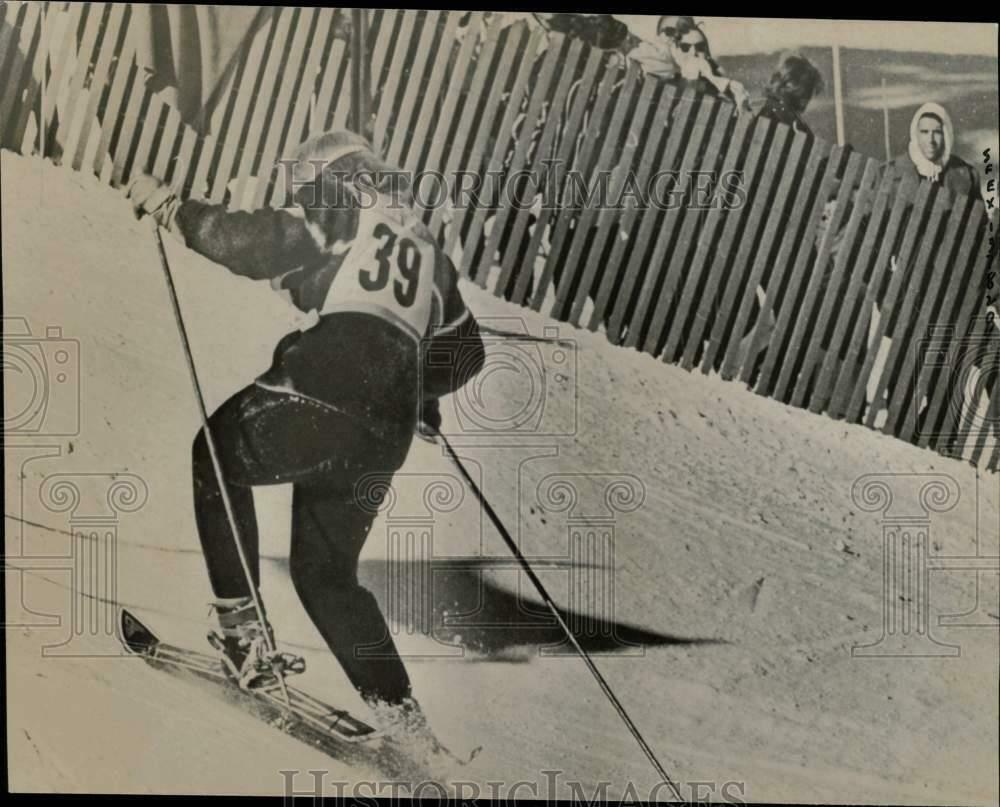
{"label": "man in white hood standing behind fence at far right", "polygon": [[951,116],[940,104],[926,103],[910,122],[910,144],[906,154],[889,163],[900,178],[915,174],[939,182],[955,196],[978,193],[976,169],[953,153],[955,130]]}

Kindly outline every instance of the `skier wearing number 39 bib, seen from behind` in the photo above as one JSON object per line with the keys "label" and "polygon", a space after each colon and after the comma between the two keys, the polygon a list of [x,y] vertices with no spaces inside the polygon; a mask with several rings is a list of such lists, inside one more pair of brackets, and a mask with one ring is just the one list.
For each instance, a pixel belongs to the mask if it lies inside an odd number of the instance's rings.
{"label": "skier wearing number 39 bib, seen from behind", "polygon": [[[413,211],[401,173],[367,140],[327,132],[302,144],[291,165],[297,207],[289,210],[181,201],[148,175],[128,195],[138,217],[153,216],[235,274],[269,280],[311,315],[311,327],[279,341],[270,369],[211,416],[211,434],[253,584],[251,486],[293,483],[289,566],[306,612],[376,718],[419,729],[426,721],[386,621],[358,583],[375,514],[355,489],[366,474],[389,476],[402,466],[418,424],[437,429],[438,398],[479,372],[483,343],[454,265]],[[258,663],[264,626],[204,430],[192,465],[226,666],[243,686],[261,685],[261,675],[266,685],[267,665]],[[378,647],[378,655],[365,647]]]}

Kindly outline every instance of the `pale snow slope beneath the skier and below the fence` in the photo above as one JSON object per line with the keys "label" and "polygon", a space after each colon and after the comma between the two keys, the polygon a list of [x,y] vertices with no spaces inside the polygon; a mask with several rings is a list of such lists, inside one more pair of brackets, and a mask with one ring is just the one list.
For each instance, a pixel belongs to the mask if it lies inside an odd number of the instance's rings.
{"label": "pale snow slope beneath the skier and below the fence", "polygon": [[[7,152],[0,168],[4,315],[26,318],[35,336],[60,327],[61,338],[78,340],[80,367],[79,434],[18,435],[6,451],[8,624],[22,625],[7,631],[11,788],[280,793],[282,769],[371,780],[364,764],[322,757],[118,657],[106,631],[84,630],[68,646],[73,658],[42,655],[63,641],[71,616],[105,613],[87,596],[134,608],[173,641],[200,641],[211,592],[190,506],[198,415],[148,223],[89,177]],[[267,366],[294,312],[266,284],[176,242],[167,249],[211,409]],[[550,325],[476,287],[464,291],[497,327],[542,334]],[[897,506],[914,512],[922,478],[913,475],[945,475],[960,498],[932,517],[932,552],[970,557],[977,535],[981,555],[998,554],[997,477],[596,334],[565,325],[559,333],[573,350],[491,346],[495,372],[458,408],[446,405],[445,425],[556,600],[574,618],[614,626],[617,639],[599,630],[587,646],[685,794],[691,782],[712,782],[720,798],[722,783],[739,782],[754,801],[996,803],[996,575],[979,578],[986,629],[937,623],[939,613],[974,607],[974,573],[931,576],[933,634],[960,655],[855,658],[851,648],[874,642],[883,625],[881,516],[852,499],[855,481],[899,475]],[[523,372],[525,356],[541,374]],[[24,383],[5,362],[8,400]],[[52,395],[65,392],[57,386]],[[545,410],[534,432],[496,428],[538,396]],[[493,431],[480,433],[488,423]],[[54,474],[83,491],[75,510],[57,506]],[[553,475],[574,491],[569,509]],[[81,514],[108,512],[104,491],[118,480],[147,495],[114,522],[116,588],[78,581],[82,610],[71,611],[68,535]],[[559,782],[581,782],[588,794],[606,781],[609,794],[632,783],[647,795],[648,763],[583,665],[542,652],[556,634],[523,613],[537,598],[500,568],[503,545],[456,480],[440,449],[415,442],[362,575],[400,626],[439,734],[458,747],[485,745],[462,776],[527,780],[545,796],[555,794],[542,771],[559,770]],[[454,498],[440,498],[435,482]],[[632,500],[607,494],[616,482],[631,486]],[[262,588],[279,639],[306,655],[305,686],[360,713],[291,590],[288,490],[256,493]],[[428,618],[449,644],[407,632],[428,612],[390,596],[401,576],[412,586],[426,568],[412,553],[400,559],[392,535],[422,527],[433,535]],[[573,530],[611,531],[613,555],[567,554]],[[621,640],[644,647],[621,649]]]}

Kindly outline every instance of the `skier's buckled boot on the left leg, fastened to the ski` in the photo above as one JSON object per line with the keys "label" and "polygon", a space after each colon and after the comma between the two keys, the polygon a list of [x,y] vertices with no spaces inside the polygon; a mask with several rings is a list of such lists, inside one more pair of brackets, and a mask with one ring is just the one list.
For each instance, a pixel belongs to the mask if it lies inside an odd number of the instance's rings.
{"label": "skier's buckled boot on the left leg, fastened to the ski", "polygon": [[274,632],[261,624],[252,597],[220,600],[212,603],[219,618],[218,631],[209,631],[208,641],[219,651],[223,672],[240,689],[271,689],[280,683],[279,677],[305,672],[305,660],[291,653],[281,653],[274,647]]}

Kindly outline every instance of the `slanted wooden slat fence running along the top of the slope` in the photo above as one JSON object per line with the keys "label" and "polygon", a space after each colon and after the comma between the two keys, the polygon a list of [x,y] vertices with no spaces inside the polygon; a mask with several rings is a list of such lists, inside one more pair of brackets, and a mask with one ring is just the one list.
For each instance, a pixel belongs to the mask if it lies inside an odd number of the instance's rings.
{"label": "slanted wooden slat fence running along the top of the slope", "polygon": [[[234,208],[283,203],[276,158],[348,119],[337,14],[276,9],[200,136],[147,89],[131,6],[5,3],[0,143],[116,186],[145,170]],[[418,193],[464,275],[614,344],[996,470],[996,255],[978,199],[524,24],[376,10],[369,34],[371,131],[389,162],[541,191],[533,206]],[[602,188],[601,203],[570,193]]]}

